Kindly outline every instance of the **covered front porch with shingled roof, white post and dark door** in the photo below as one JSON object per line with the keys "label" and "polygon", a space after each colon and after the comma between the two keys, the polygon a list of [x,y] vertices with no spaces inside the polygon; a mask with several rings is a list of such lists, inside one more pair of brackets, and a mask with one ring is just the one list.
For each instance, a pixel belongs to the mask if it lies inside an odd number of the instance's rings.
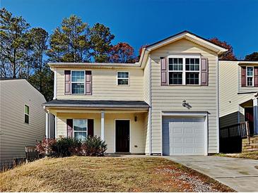
{"label": "covered front porch with shingled roof, white post and dark door", "polygon": [[54,100],[44,105],[55,116],[56,138],[98,136],[109,154],[148,151],[149,106],[143,101]]}

